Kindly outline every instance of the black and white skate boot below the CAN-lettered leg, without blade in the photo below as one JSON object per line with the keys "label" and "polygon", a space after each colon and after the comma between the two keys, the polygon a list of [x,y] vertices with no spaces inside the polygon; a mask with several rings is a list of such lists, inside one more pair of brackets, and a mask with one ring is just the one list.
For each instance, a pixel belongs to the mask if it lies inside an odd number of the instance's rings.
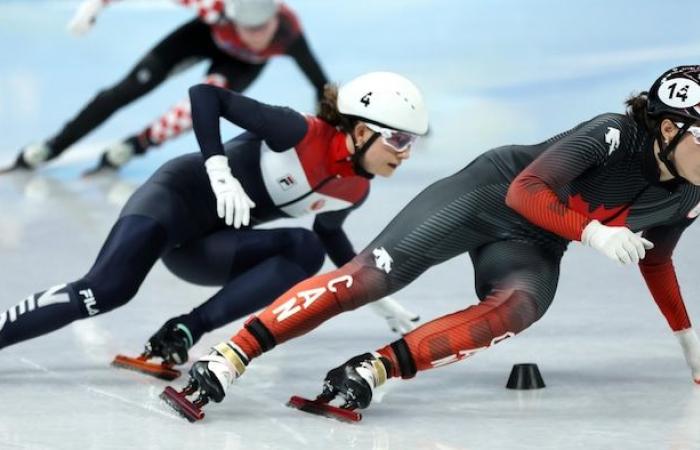
{"label": "black and white skate boot below the CAN-lettered leg, without blade", "polygon": [[243,353],[234,347],[228,341],[217,344],[190,368],[190,377],[199,390],[217,403],[224,399],[228,387],[245,372],[248,364]]}

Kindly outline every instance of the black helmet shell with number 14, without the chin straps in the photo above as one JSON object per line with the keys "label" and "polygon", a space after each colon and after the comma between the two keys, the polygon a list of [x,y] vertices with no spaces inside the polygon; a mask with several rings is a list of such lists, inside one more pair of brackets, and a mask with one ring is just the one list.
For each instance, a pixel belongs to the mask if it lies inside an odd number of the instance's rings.
{"label": "black helmet shell with number 14, without the chin straps", "polygon": [[678,66],[661,75],[649,90],[647,114],[700,120],[700,66]]}

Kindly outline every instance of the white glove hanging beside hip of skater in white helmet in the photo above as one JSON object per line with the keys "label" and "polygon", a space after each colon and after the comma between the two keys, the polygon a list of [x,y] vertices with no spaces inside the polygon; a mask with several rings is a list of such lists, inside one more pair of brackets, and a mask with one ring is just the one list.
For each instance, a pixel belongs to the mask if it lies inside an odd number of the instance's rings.
{"label": "white glove hanging beside hip of skater in white helmet", "polygon": [[210,156],[204,162],[209,175],[211,189],[216,196],[216,211],[226,220],[226,225],[240,228],[250,223],[250,208],[255,203],[243,190],[241,183],[231,174],[228,158],[224,155]]}

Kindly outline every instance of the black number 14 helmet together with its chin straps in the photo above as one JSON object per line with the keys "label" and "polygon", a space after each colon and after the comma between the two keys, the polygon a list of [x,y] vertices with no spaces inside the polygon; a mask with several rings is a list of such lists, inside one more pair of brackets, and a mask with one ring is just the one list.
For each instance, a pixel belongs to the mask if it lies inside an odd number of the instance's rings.
{"label": "black number 14 helmet together with its chin straps", "polygon": [[669,143],[662,142],[660,131],[656,131],[661,149],[659,158],[674,176],[680,178],[669,155],[688,128],[700,121],[700,65],[674,67],[661,75],[649,90],[647,115],[658,120],[668,117],[683,124]]}

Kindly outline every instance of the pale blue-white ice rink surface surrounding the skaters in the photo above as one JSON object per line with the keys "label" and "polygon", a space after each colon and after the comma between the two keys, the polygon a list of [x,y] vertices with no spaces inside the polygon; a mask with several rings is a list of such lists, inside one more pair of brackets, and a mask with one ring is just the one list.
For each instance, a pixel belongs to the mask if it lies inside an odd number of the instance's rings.
{"label": "pale blue-white ice rink surface surrounding the skaters", "polygon": [[[290,3],[332,79],[398,71],[423,88],[429,104],[430,137],[393,179],[373,184],[348,220],[358,249],[423,187],[482,151],[538,142],[598,113],[622,111],[631,92],[665,69],[700,62],[690,0]],[[125,0],[78,39],[65,31],[77,4],[0,0],[0,163],[54,133],[192,16],[167,2]],[[155,119],[203,71],[200,65],[168,81],[36,174],[0,178],[0,310],[82,276],[129,193],[162,162],[197,151],[190,134],[117,176],[80,178],[104,145]],[[312,90],[288,60],[269,64],[248,94],[312,110]],[[675,254],[691,318],[700,317],[698,248],[695,225]],[[256,360],[194,425],[161,404],[165,382],[109,366],[117,353],[138,353],[166,318],[212,292],[158,264],[127,306],[0,351],[0,449],[700,448],[700,386],[638,270],[577,244],[542,320],[459,364],[390,382],[354,425],[284,403],[292,394],[315,395],[327,370],[395,339],[369,311],[336,317]],[[423,320],[473,304],[468,258],[433,268],[396,298]],[[205,336],[191,355],[239,325]],[[506,390],[520,362],[537,363],[547,387]]]}

